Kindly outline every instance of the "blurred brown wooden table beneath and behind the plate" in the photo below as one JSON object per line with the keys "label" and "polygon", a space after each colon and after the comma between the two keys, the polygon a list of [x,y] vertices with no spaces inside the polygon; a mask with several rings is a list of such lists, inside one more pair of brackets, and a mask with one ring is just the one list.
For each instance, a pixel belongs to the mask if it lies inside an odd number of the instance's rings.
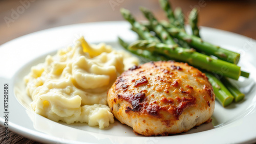
{"label": "blurred brown wooden table beneath and behind the plate", "polygon": [[[172,0],[171,2],[174,8],[181,7],[186,16],[192,8],[197,7],[200,12],[200,26],[222,29],[256,39],[256,1]],[[58,26],[123,20],[119,13],[121,7],[131,10],[137,19],[145,20],[139,11],[139,6],[151,9],[159,19],[166,19],[156,0],[2,0],[0,1],[0,44],[19,36]],[[18,141],[37,143],[14,132],[10,132],[10,139],[6,141],[3,132],[4,127],[1,126],[0,143]]]}

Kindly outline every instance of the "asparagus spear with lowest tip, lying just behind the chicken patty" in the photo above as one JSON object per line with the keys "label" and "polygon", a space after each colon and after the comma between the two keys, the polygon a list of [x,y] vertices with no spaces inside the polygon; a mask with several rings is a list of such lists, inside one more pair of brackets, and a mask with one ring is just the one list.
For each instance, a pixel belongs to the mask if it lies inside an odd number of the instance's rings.
{"label": "asparagus spear with lowest tip, lying just behind the chicken patty", "polygon": [[120,37],[118,37],[118,42],[125,50],[139,56],[144,62],[169,60],[168,58],[166,58],[164,56],[152,54],[151,52],[149,52],[147,50],[130,50],[130,49],[128,49],[129,44],[127,42],[123,41]]}

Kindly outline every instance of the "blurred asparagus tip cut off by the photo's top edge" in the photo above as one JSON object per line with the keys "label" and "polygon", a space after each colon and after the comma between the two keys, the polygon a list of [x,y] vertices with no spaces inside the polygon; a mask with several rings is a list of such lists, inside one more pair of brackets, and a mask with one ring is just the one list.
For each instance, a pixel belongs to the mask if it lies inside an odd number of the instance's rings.
{"label": "blurred asparagus tip cut off by the photo's top edge", "polygon": [[161,8],[164,10],[168,20],[170,23],[173,23],[175,21],[174,12],[172,9],[172,6],[170,6],[170,3],[168,0],[159,0]]}

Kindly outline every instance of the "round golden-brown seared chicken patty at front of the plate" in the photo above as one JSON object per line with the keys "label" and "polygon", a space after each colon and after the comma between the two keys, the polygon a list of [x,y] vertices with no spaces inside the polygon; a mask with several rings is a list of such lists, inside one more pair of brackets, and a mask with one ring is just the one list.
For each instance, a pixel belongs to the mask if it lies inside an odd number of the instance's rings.
{"label": "round golden-brown seared chicken patty at front of the plate", "polygon": [[205,74],[187,63],[148,62],[122,73],[108,91],[114,116],[145,136],[186,132],[208,121],[215,94]]}

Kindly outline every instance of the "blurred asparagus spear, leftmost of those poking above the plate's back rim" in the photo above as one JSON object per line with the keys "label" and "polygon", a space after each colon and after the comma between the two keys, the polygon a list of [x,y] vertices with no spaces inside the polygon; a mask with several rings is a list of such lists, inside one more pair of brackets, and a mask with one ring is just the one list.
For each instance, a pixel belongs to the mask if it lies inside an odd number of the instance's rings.
{"label": "blurred asparagus spear, leftmost of those poking above the plate's back rim", "polygon": [[139,34],[141,38],[151,41],[160,41],[157,37],[153,36],[145,26],[141,25],[138,21],[136,21],[129,10],[121,8],[120,12],[123,18],[131,23],[132,29],[137,32],[137,34]]}

